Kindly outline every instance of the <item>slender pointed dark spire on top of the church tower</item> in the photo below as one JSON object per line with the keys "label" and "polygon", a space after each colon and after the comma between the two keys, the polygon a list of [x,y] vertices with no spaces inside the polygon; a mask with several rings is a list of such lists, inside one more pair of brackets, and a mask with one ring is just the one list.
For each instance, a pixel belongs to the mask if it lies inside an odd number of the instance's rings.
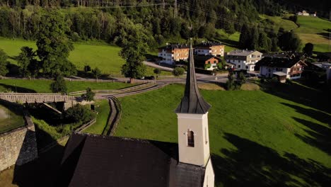
{"label": "slender pointed dark spire on top of the church tower", "polygon": [[175,113],[204,114],[210,108],[209,103],[200,95],[194,70],[192,40],[190,40],[189,64],[187,67],[185,93]]}

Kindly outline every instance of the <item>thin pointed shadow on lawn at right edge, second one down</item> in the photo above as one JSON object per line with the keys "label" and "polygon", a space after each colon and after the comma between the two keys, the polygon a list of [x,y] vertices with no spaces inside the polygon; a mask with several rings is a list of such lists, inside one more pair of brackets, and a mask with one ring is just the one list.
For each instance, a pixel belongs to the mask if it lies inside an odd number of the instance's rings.
{"label": "thin pointed shadow on lawn at right edge, second one down", "polygon": [[303,108],[301,106],[291,105],[289,103],[281,103],[281,104],[283,104],[284,106],[289,106],[291,108],[294,108],[297,113],[307,115],[307,116],[309,116],[311,118],[314,118],[315,120],[318,120],[322,123],[330,123],[329,125],[331,126],[331,115],[329,115],[327,113],[316,111],[316,110],[311,109],[311,108]]}

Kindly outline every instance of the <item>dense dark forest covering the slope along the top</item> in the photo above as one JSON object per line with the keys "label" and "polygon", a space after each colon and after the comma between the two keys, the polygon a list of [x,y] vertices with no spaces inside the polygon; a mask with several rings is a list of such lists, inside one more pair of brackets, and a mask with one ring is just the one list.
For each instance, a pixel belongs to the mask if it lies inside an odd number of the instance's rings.
{"label": "dense dark forest covering the slope along the top", "polygon": [[[176,2],[176,3],[175,3]],[[105,40],[122,46],[127,30],[141,28],[149,36],[149,46],[163,45],[169,38],[206,38],[213,40],[215,29],[227,33],[242,31],[260,35],[266,47],[276,50],[275,38],[284,34],[261,23],[259,14],[279,16],[284,8],[292,11],[291,1],[276,0],[0,0],[0,36],[36,40],[42,16],[57,8],[69,28],[73,41]],[[327,1],[325,1],[327,4]],[[245,28],[245,29],[246,29]],[[257,31],[256,31],[257,29]],[[279,32],[280,31],[280,32]],[[253,34],[252,34],[253,33]],[[268,46],[267,46],[268,45]],[[252,46],[255,46],[252,45]],[[252,48],[241,43],[240,47]],[[279,46],[281,47],[281,46]]]}

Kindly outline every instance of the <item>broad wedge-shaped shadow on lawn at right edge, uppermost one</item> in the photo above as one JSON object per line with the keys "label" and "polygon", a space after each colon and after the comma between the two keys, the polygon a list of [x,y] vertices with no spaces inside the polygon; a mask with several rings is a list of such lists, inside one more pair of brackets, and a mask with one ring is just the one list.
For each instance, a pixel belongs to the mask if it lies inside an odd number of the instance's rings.
{"label": "broad wedge-shaped shadow on lawn at right edge, uppermost one", "polygon": [[310,89],[300,84],[261,84],[263,91],[289,101],[301,103],[311,108],[331,113],[330,91]]}

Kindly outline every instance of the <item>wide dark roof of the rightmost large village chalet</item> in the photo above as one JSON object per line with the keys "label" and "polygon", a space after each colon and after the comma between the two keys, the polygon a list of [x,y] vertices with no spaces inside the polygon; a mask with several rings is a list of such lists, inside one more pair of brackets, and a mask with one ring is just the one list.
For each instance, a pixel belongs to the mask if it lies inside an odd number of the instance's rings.
{"label": "wide dark roof of the rightmost large village chalet", "polygon": [[274,58],[274,57],[264,57],[262,58],[262,60],[260,60],[259,62],[257,62],[255,64],[255,66],[258,67],[286,67],[286,68],[290,68],[293,67],[294,64],[298,63],[298,62],[302,62],[303,64],[305,64],[305,62],[303,62],[302,60],[298,59],[298,58]]}

